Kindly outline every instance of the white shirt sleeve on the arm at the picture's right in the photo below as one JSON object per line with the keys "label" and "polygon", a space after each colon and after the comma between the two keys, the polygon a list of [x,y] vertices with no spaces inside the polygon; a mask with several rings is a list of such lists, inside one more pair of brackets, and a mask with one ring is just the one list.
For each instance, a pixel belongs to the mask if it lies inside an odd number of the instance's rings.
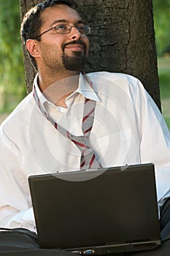
{"label": "white shirt sleeve on the arm at the picture's right", "polygon": [[142,163],[155,164],[158,206],[161,207],[170,197],[170,133],[160,110],[139,81],[138,87],[136,108],[142,134],[140,157]]}

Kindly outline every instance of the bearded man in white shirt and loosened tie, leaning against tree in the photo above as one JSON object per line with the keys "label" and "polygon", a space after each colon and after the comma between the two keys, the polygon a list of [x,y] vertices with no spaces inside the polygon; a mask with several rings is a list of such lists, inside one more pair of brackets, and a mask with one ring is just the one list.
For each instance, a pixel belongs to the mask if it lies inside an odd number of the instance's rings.
{"label": "bearded man in white shirt and loosened tie, leaning against tree", "polygon": [[159,208],[170,196],[170,135],[161,113],[136,78],[82,72],[88,34],[71,0],[44,1],[23,19],[37,75],[33,92],[1,125],[1,227],[35,230],[34,174],[154,162]]}

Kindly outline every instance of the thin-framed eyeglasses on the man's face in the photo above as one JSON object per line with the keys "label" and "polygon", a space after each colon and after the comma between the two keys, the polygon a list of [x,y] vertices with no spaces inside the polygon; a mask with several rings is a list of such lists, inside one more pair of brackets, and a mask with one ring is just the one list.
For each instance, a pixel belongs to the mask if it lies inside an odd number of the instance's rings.
{"label": "thin-framed eyeglasses on the man's face", "polygon": [[[58,34],[69,34],[72,31],[72,28],[76,28],[78,29],[78,31],[80,31],[81,34],[90,34],[90,27],[87,25],[80,25],[80,26],[70,26],[68,24],[60,24],[57,26],[53,26],[50,29],[47,29],[46,31],[44,31],[42,34],[45,34],[46,32],[54,29],[56,33]],[[42,34],[39,34],[37,37],[41,37]]]}

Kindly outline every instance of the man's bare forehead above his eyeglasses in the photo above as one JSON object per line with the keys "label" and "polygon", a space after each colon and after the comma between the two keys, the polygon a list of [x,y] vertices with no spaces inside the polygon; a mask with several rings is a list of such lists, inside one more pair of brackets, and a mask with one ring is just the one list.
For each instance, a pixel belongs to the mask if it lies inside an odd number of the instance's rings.
{"label": "man's bare forehead above his eyeglasses", "polygon": [[52,26],[57,20],[67,20],[69,23],[76,23],[82,20],[79,13],[66,4],[57,4],[47,7],[41,15],[42,26]]}

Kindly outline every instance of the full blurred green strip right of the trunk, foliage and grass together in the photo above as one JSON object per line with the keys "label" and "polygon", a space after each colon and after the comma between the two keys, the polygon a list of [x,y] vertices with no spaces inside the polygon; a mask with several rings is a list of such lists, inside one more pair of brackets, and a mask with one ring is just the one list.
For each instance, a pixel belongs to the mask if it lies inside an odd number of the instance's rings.
{"label": "full blurred green strip right of the trunk, foliage and grass together", "polygon": [[[170,0],[152,0],[155,42],[158,56],[170,56]],[[161,89],[163,117],[170,129],[170,58],[158,58],[158,75]]]}

